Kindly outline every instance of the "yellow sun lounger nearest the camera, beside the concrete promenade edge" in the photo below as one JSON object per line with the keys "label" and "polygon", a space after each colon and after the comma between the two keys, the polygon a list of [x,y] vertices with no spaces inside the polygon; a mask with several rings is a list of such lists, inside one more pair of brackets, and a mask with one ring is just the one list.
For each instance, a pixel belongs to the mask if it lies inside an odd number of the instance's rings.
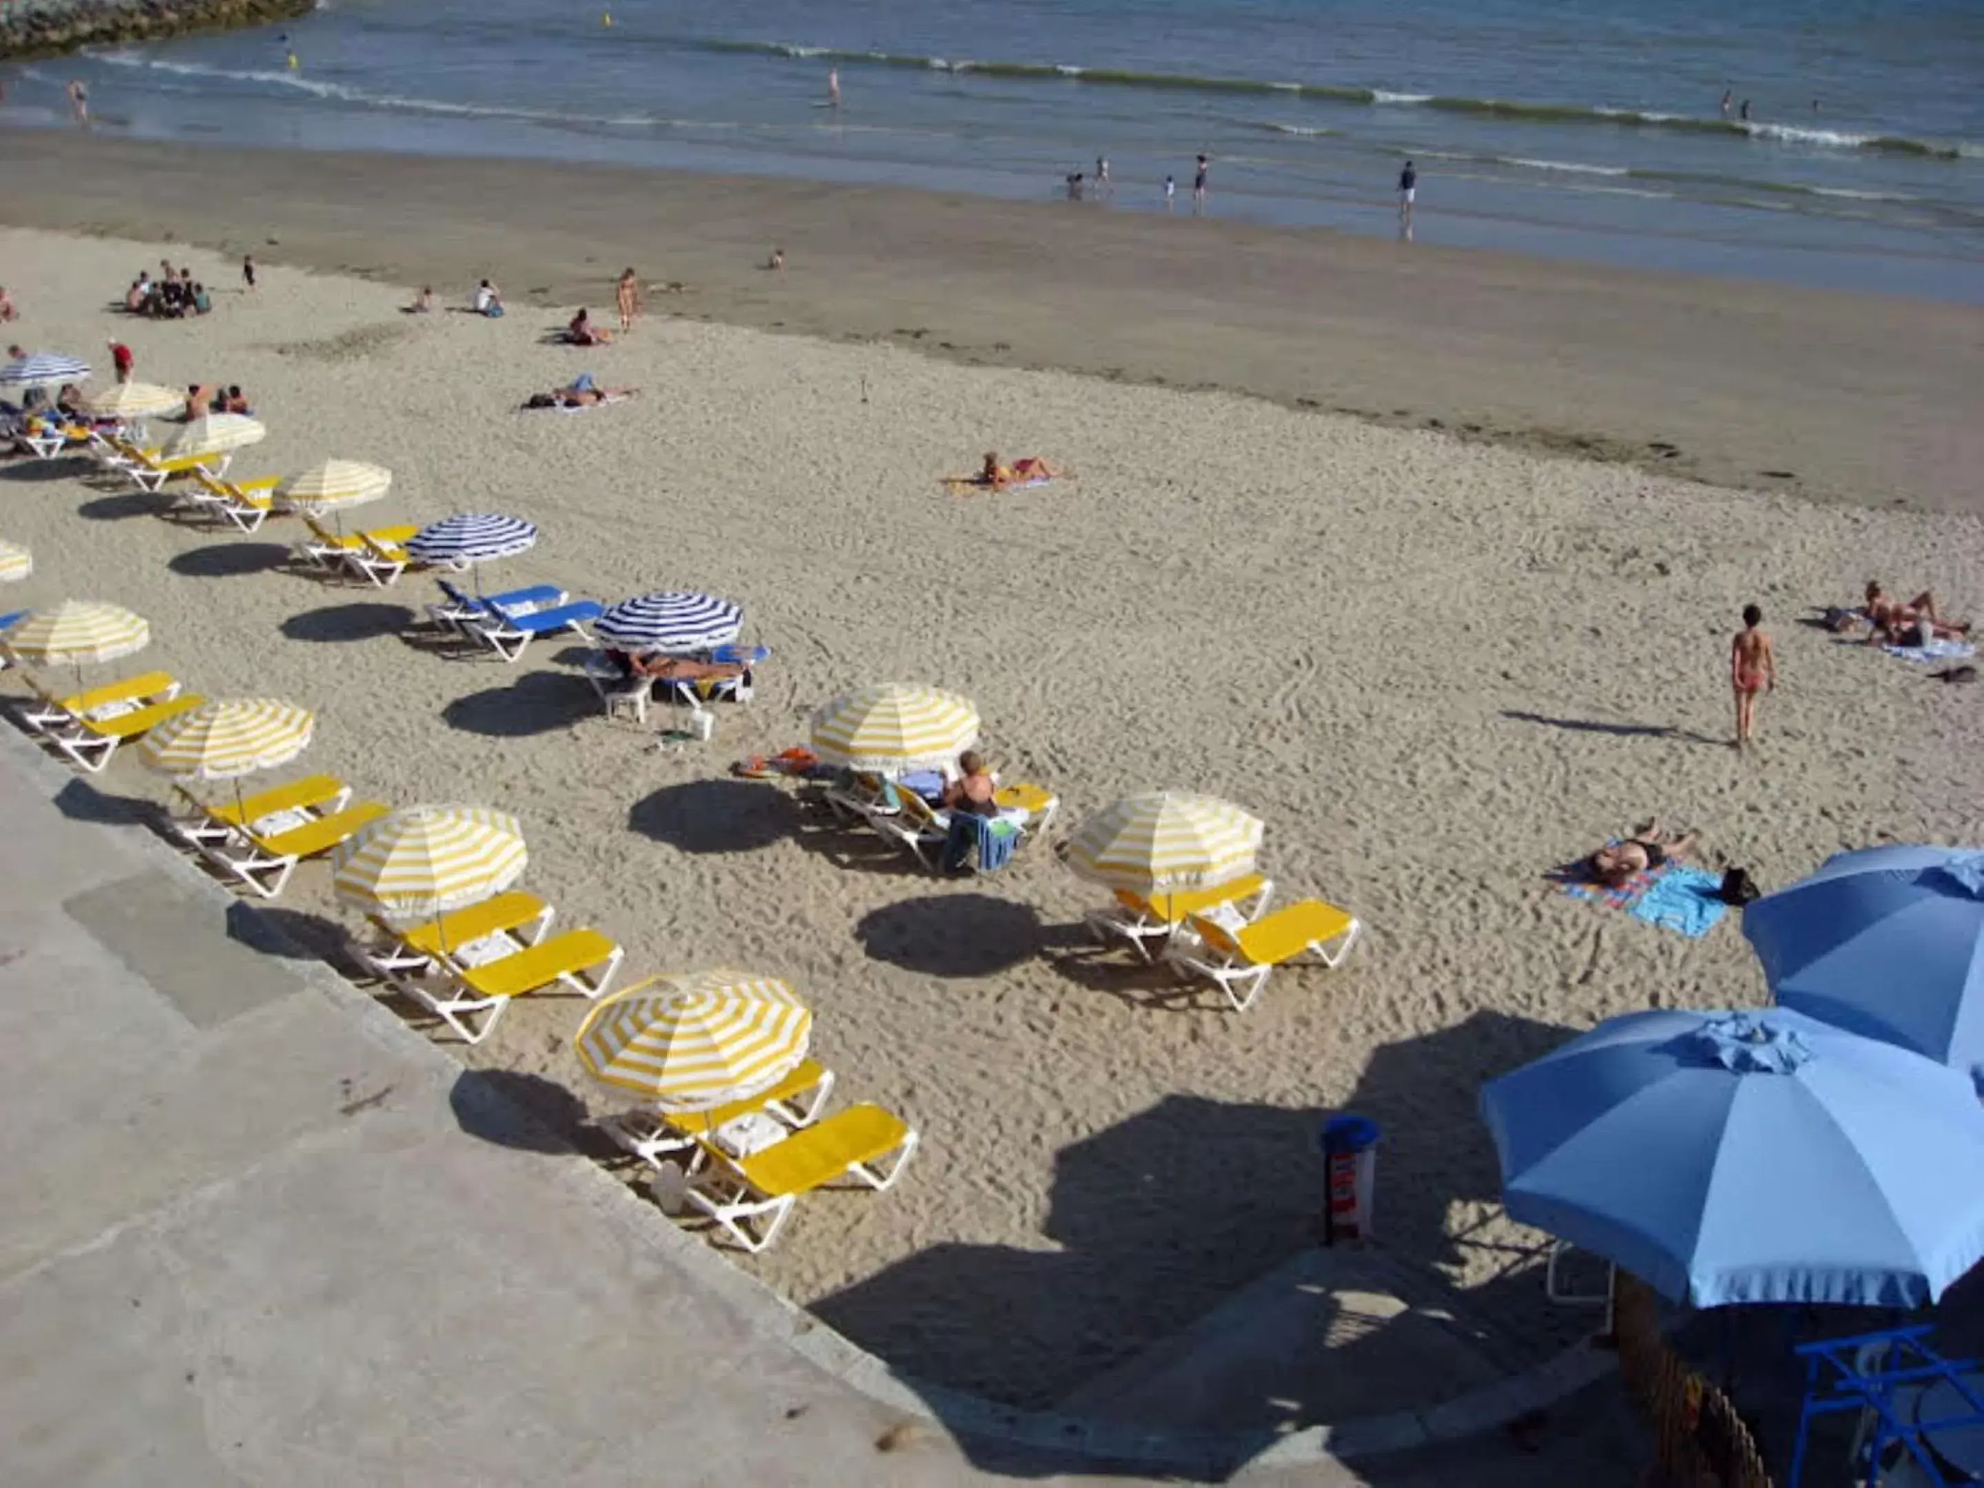
{"label": "yellow sun lounger nearest the camera, beside the concrete promenade edge", "polygon": [[[698,1139],[708,1167],[682,1198],[756,1256],[778,1238],[800,1194],[849,1175],[885,1190],[903,1177],[917,1143],[915,1129],[879,1105],[849,1105],[750,1157],[730,1157],[714,1139]],[[891,1153],[895,1161],[885,1165]]]}

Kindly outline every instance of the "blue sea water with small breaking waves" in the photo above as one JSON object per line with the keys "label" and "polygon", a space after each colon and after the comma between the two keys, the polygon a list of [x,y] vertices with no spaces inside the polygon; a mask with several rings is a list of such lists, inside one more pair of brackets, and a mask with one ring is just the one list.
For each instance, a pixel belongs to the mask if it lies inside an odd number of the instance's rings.
{"label": "blue sea water with small breaking waves", "polygon": [[0,119],[69,77],[212,149],[1083,171],[1079,210],[1190,212],[1204,153],[1214,216],[1385,236],[1411,159],[1419,242],[1984,302],[1984,0],[327,0],[18,67]]}

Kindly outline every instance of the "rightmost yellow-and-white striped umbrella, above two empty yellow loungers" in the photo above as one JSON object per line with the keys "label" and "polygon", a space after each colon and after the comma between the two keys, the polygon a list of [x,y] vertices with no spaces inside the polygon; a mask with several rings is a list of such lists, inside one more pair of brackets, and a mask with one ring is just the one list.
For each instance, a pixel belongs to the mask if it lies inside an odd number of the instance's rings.
{"label": "rightmost yellow-and-white striped umbrella, above two empty yellow loungers", "polygon": [[1147,792],[1105,806],[1067,839],[1083,879],[1135,893],[1226,883],[1254,869],[1262,821],[1218,796]]}

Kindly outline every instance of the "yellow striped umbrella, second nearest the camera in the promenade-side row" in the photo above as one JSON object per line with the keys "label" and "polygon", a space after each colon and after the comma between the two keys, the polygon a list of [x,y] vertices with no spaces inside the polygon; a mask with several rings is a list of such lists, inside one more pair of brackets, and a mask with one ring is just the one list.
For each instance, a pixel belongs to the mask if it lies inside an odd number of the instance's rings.
{"label": "yellow striped umbrella, second nearest the camera in the promenade-side row", "polygon": [[339,847],[331,883],[367,915],[431,919],[502,893],[528,861],[514,815],[482,806],[411,806]]}

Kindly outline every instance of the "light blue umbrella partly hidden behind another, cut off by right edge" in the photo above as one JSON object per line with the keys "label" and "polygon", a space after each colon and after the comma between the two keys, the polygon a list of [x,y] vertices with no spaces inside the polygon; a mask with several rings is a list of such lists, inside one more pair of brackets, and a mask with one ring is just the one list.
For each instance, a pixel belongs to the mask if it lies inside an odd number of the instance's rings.
{"label": "light blue umbrella partly hidden behind another, cut off by right edge", "polygon": [[1839,853],[1742,932],[1780,1006],[1984,1075],[1984,853]]}

